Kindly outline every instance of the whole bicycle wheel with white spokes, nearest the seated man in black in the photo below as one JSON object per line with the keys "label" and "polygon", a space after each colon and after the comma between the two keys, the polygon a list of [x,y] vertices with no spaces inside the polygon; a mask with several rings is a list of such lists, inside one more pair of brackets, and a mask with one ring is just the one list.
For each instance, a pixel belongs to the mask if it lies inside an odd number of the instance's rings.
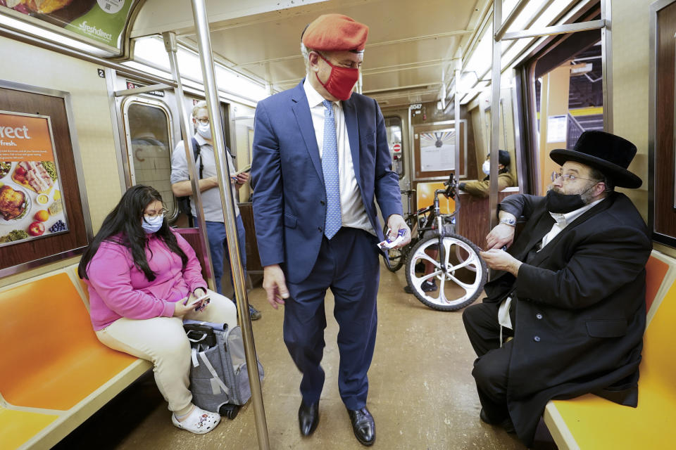
{"label": "whole bicycle wheel with white spokes, nearest the seated man in black", "polygon": [[[486,283],[488,270],[479,256],[479,248],[463,236],[444,236],[442,250],[439,251],[439,233],[415,244],[406,261],[406,281],[415,297],[425,306],[439,311],[455,311],[477,300]],[[421,265],[425,266],[420,262],[431,263],[432,272],[425,274],[424,269],[420,270]],[[442,267],[446,268],[445,273]],[[435,289],[425,292],[423,282],[428,280],[434,282]]]}

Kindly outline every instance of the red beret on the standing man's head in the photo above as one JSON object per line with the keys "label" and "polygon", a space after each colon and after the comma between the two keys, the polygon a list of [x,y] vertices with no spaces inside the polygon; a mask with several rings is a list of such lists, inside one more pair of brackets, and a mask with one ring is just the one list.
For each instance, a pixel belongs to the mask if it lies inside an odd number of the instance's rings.
{"label": "red beret on the standing man's head", "polygon": [[324,14],[303,32],[303,45],[319,51],[363,51],[368,27],[342,14]]}

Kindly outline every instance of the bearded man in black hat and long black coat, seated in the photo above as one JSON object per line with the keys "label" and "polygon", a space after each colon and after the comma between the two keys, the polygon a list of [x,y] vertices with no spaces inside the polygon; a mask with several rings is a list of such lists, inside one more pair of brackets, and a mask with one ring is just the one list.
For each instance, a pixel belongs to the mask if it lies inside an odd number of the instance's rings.
{"label": "bearded man in black hat and long black coat, seated", "polygon": [[584,132],[574,150],[551,151],[562,167],[546,197],[508,196],[487,236],[481,255],[498,273],[483,303],[463,312],[480,417],[528,446],[550,399],[592,392],[637,406],[651,239],[629,198],[613,191],[641,186],[627,170],[635,153],[618,136]]}

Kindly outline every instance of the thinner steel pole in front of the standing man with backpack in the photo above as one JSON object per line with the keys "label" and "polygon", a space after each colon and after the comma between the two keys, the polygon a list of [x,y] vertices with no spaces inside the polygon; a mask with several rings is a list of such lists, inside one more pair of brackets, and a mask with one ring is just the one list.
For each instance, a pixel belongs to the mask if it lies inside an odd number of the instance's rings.
{"label": "thinner steel pole in front of the standing man with backpack", "polygon": [[[183,146],[185,148],[185,160],[188,162],[188,173],[190,174],[190,181],[192,184],[192,199],[195,203],[195,212],[197,217],[197,228],[200,231],[200,238],[203,243],[204,252],[206,252],[206,262],[207,266],[204,268],[207,274],[206,283],[209,286],[209,289],[216,290],[216,285],[214,283],[213,269],[211,265],[211,251],[209,250],[209,238],[206,234],[206,222],[204,221],[204,209],[202,208],[202,195],[199,191],[199,174],[195,168],[195,159],[192,153],[192,148],[190,146],[190,119],[185,113],[185,103],[183,96],[183,84],[181,82],[181,72],[178,68],[178,58],[176,52],[178,49],[178,44],[176,41],[175,32],[164,32],[162,33],[162,38],[164,39],[164,48],[167,51],[169,56],[169,63],[171,65],[171,74],[176,82],[176,87],[174,88],[174,95],[176,97],[176,103],[178,108],[178,117],[181,122],[181,131],[183,133]],[[200,261],[200,263],[202,263]]]}

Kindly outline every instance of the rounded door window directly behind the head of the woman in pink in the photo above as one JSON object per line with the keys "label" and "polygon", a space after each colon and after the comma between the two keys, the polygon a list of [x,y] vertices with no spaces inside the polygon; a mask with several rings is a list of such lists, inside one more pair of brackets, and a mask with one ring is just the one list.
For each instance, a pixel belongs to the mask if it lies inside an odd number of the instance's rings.
{"label": "rounded door window directly behind the head of the woman in pink", "polygon": [[178,210],[169,182],[173,148],[170,115],[160,103],[140,101],[127,102],[124,115],[132,184],[156,188],[169,210],[168,217],[174,219]]}

